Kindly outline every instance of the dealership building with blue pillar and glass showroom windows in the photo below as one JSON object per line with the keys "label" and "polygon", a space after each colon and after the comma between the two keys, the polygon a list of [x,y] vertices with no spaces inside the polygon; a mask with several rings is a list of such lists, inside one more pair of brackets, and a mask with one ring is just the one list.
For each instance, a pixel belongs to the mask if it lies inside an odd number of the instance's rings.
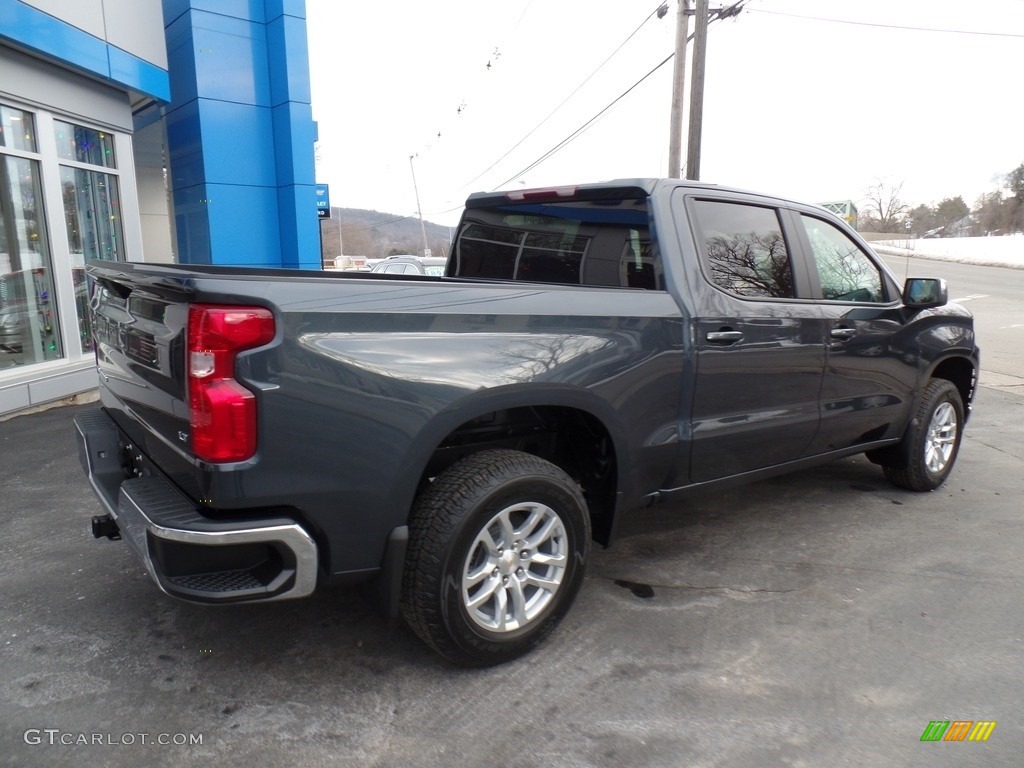
{"label": "dealership building with blue pillar and glass showroom windows", "polygon": [[0,0],[0,416],[96,384],[87,259],[319,268],[304,0]]}

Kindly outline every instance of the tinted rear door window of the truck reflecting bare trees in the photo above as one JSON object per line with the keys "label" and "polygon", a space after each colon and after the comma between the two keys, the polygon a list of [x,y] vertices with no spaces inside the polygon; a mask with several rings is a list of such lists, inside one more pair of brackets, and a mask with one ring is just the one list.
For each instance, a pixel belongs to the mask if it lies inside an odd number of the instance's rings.
{"label": "tinted rear door window of the truck reflecting bare trees", "polygon": [[697,200],[693,203],[711,281],[737,296],[796,297],[793,264],[774,208]]}

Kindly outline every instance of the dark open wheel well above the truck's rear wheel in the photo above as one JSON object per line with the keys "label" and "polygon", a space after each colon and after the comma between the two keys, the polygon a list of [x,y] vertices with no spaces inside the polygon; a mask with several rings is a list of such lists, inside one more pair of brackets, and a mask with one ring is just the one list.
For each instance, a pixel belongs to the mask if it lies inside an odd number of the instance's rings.
{"label": "dark open wheel well above the truck's rear wheel", "polygon": [[453,430],[437,446],[421,487],[465,456],[504,447],[545,459],[580,484],[594,540],[606,545],[615,511],[617,468],[611,435],[585,411],[530,406],[482,414]]}

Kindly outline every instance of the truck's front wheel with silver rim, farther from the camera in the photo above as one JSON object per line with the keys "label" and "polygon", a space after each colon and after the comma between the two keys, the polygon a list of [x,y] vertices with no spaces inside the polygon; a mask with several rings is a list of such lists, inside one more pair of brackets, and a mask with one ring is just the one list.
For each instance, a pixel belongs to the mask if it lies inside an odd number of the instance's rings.
{"label": "truck's front wheel with silver rim, farther from the camera", "polygon": [[952,471],[964,434],[964,400],[945,379],[925,387],[903,441],[882,462],[890,482],[910,490],[934,490]]}

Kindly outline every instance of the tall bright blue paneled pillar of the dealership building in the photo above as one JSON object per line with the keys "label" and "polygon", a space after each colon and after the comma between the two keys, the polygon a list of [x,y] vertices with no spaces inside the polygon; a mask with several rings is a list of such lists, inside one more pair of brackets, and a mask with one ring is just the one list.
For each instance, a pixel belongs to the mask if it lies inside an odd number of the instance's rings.
{"label": "tall bright blue paneled pillar of the dealership building", "polygon": [[318,269],[304,2],[164,0],[164,12],[180,260]]}

